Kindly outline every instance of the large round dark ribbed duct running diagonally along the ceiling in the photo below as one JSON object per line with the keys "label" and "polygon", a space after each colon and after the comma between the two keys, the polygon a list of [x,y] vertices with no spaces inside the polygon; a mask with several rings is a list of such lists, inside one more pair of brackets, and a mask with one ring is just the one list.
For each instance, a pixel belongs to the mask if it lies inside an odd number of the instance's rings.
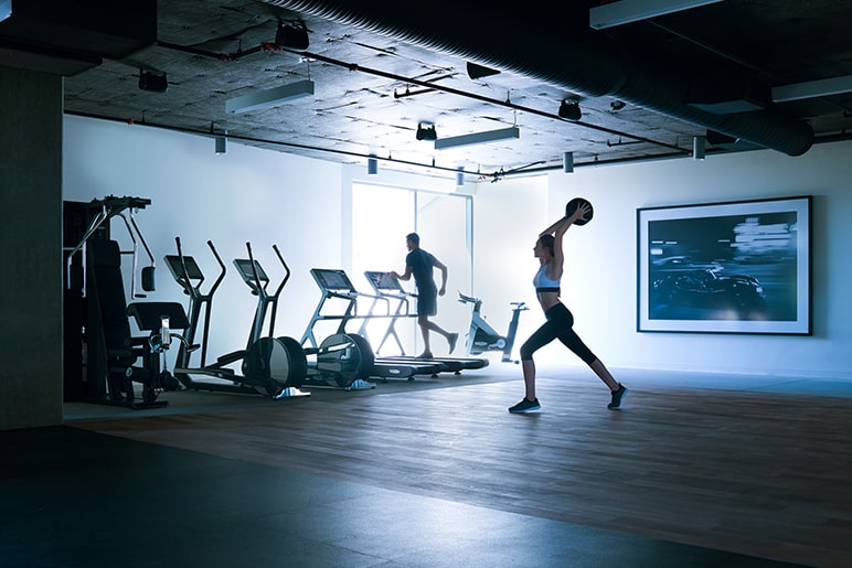
{"label": "large round dark ribbed duct running diagonally along the ceiling", "polygon": [[[491,2],[436,0],[414,15],[408,4],[397,0],[264,1],[518,73],[585,97],[610,96],[788,156],[801,156],[813,143],[809,124],[771,110],[725,115],[690,105],[694,97],[690,77],[700,69],[679,73],[656,65],[653,54],[642,54],[638,47],[628,53],[587,25],[585,30],[568,26],[562,18],[558,26],[546,19],[519,21],[516,11],[502,13]],[[518,41],[521,32],[523,40]]]}

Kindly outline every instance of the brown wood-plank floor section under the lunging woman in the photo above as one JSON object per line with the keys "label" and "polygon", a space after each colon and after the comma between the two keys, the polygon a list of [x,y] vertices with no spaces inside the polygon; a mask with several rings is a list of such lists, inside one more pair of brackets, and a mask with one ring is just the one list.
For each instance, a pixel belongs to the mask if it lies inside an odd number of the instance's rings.
{"label": "brown wood-plank floor section under the lunging woman", "polygon": [[[67,424],[493,510],[852,566],[852,398],[635,382],[611,411],[590,374],[567,375],[540,378],[543,408],[529,415],[507,412],[520,379],[459,377],[439,385],[449,388],[315,389]],[[172,407],[181,396],[223,396],[171,395]]]}

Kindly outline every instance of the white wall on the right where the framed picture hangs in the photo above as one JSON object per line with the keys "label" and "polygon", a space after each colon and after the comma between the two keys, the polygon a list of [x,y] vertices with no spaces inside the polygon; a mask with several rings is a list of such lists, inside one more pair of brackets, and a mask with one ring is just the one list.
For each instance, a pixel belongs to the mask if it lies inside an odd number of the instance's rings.
{"label": "white wall on the right where the framed picture hangs", "polygon": [[[551,174],[549,219],[558,218],[576,195],[595,206],[594,221],[566,237],[563,299],[574,312],[577,332],[609,366],[852,378],[849,156],[852,143],[842,142],[817,146],[799,158],[756,151],[703,162],[670,160]],[[529,183],[512,181],[514,192],[507,183],[507,193],[518,197],[501,206],[525,207]],[[480,191],[477,206],[489,195]],[[814,196],[812,336],[636,332],[637,208],[795,195]],[[526,272],[513,279],[511,271],[501,276],[509,274],[513,283],[507,286],[523,290],[532,270]],[[562,347],[544,350],[541,357],[581,364]]]}

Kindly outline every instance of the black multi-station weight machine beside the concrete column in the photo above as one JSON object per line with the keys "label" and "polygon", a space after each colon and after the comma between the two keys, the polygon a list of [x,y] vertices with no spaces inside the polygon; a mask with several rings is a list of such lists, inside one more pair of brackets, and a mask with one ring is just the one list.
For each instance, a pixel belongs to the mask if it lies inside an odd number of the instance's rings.
{"label": "black multi-station weight machine beside the concrete column", "polygon": [[[126,406],[134,409],[167,406],[157,400],[177,387],[162,375],[159,354],[148,337],[130,331],[121,274],[121,255],[132,255],[131,297],[137,291],[139,244],[150,258],[141,269],[143,291],[155,289],[155,261],[135,219],[151,200],[109,195],[89,203],[65,202],[64,399]],[[132,249],[123,251],[110,238],[110,221],[124,221]],[[141,302],[140,302],[141,303]],[[146,331],[146,330],[142,330]],[[139,361],[141,360],[141,365]],[[141,384],[137,398],[134,384]]]}

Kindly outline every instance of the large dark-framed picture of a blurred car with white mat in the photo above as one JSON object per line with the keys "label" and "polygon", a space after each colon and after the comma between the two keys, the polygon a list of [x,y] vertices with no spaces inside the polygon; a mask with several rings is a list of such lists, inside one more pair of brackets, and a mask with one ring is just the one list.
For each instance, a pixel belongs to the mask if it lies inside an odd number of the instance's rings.
{"label": "large dark-framed picture of a blurred car with white mat", "polygon": [[637,331],[810,335],[811,200],[637,210]]}

